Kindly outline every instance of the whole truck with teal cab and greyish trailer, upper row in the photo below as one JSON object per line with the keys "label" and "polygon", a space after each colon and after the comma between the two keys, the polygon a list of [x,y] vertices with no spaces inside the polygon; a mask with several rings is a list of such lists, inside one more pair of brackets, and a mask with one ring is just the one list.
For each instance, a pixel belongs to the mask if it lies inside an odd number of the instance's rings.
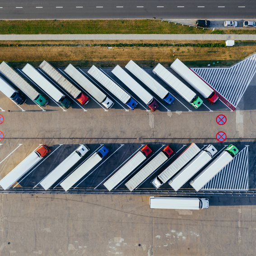
{"label": "whole truck with teal cab and greyish trailer, upper row", "polygon": [[44,107],[48,104],[47,97],[38,93],[28,82],[23,79],[13,68],[11,68],[5,61],[0,64],[0,71],[5,75],[16,87],[18,87],[29,98],[36,102],[39,106]]}

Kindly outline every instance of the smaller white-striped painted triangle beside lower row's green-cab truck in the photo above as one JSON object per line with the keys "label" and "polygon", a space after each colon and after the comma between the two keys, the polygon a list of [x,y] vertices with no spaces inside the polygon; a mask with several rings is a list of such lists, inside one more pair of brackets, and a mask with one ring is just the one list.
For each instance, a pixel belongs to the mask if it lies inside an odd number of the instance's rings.
{"label": "smaller white-striped painted triangle beside lower row's green-cab truck", "polygon": [[248,146],[245,146],[202,190],[247,191],[248,187]]}

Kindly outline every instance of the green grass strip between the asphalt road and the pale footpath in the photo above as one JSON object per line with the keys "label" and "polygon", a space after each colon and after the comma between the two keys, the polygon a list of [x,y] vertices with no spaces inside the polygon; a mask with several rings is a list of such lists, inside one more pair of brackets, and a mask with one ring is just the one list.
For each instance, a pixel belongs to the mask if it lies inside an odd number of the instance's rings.
{"label": "green grass strip between the asphalt road and the pale footpath", "polygon": [[143,20],[0,20],[0,34],[256,34],[256,29],[214,30]]}

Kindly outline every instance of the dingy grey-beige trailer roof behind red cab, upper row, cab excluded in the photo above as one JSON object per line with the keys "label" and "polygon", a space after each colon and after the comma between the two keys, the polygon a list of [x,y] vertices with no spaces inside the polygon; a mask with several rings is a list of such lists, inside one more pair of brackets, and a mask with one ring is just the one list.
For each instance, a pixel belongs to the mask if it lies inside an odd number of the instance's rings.
{"label": "dingy grey-beige trailer roof behind red cab, upper row, cab excluded", "polygon": [[48,74],[53,80],[61,85],[68,93],[70,93],[73,98],[78,98],[81,91],[70,83],[65,77],[60,74],[51,64],[47,61],[43,61],[39,68],[42,69],[46,74]]}

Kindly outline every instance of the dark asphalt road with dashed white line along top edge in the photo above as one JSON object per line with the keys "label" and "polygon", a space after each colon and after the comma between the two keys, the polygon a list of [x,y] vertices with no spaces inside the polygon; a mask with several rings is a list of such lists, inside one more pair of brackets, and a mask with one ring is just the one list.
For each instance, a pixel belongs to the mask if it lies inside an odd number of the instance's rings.
{"label": "dark asphalt road with dashed white line along top edge", "polygon": [[253,19],[255,0],[0,0],[0,19]]}

